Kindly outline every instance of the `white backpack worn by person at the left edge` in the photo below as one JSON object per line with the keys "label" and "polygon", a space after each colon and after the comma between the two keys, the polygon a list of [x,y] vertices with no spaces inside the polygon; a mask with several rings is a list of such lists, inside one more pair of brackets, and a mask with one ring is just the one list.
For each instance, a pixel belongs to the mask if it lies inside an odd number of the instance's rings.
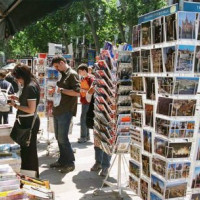
{"label": "white backpack worn by person at the left edge", "polygon": [[7,104],[8,101],[8,92],[10,90],[11,83],[7,89],[0,88],[0,112],[9,112],[10,106]]}

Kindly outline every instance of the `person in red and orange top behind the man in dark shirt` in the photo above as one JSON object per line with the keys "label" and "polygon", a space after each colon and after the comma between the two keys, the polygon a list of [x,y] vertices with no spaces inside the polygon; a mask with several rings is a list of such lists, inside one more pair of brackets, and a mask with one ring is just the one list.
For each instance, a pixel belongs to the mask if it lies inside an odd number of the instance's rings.
{"label": "person in red and orange top behind the man in dark shirt", "polygon": [[89,128],[86,124],[86,115],[89,109],[90,102],[86,99],[86,93],[90,89],[94,77],[88,74],[87,64],[81,64],[78,66],[78,74],[81,76],[81,91],[80,91],[80,101],[82,104],[81,110],[81,133],[78,143],[85,143],[90,139]]}

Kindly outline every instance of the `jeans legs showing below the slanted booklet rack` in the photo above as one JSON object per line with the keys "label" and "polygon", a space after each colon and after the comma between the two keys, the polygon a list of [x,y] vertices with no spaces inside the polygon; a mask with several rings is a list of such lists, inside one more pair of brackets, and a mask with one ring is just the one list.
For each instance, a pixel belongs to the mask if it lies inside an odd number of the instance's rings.
{"label": "jeans legs showing below the slanted booklet rack", "polygon": [[111,156],[102,151],[99,147],[94,147],[94,150],[96,163],[101,164],[102,169],[109,168]]}

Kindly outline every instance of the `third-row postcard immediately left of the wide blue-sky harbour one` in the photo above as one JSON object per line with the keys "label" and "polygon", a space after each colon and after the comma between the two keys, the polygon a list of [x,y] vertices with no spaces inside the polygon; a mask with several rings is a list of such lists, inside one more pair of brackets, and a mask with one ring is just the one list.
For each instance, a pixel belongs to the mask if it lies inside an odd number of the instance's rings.
{"label": "third-row postcard immediately left of the wide blue-sky harbour one", "polygon": [[171,95],[173,92],[174,81],[171,77],[158,77],[158,93]]}

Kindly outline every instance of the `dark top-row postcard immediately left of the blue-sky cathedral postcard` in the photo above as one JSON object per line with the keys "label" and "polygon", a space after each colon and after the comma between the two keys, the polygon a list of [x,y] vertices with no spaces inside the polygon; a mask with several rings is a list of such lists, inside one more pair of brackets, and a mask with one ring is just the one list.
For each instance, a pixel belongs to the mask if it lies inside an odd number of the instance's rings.
{"label": "dark top-row postcard immediately left of the blue-sky cathedral postcard", "polygon": [[166,41],[177,39],[176,13],[165,17]]}

